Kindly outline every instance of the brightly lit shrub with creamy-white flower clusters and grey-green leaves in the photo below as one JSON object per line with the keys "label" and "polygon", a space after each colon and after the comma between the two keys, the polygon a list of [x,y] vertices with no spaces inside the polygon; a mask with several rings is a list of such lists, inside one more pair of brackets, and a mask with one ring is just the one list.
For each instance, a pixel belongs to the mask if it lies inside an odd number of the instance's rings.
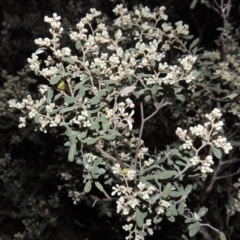
{"label": "brightly lit shrub with creamy-white flower clusters and grey-green leaves", "polygon": [[[68,160],[82,173],[81,181],[71,170],[61,173],[78,186],[68,189],[69,197],[77,204],[96,188],[94,205],[101,202],[108,216],[106,203],[116,202],[126,239],[144,239],[165,219],[181,218],[190,237],[199,231],[205,236],[207,226],[226,239],[220,227],[202,222],[206,198],[191,203],[204,186],[205,195],[212,191],[221,167],[238,161],[232,146],[238,145],[239,126],[231,128],[229,119],[239,117],[232,101],[239,94],[239,46],[228,23],[230,4],[206,5],[224,20],[222,57],[198,49],[199,39],[182,21],[167,22],[165,7],[130,11],[119,4],[113,24],[91,8],[69,33],[75,49],[62,47],[61,17],[45,16],[51,37],[37,38],[39,48],[28,58],[31,70],[46,80],[39,85],[41,97],[8,101],[23,113],[19,128],[33,119],[44,133],[64,129]],[[172,132],[174,141],[158,147]]]}

